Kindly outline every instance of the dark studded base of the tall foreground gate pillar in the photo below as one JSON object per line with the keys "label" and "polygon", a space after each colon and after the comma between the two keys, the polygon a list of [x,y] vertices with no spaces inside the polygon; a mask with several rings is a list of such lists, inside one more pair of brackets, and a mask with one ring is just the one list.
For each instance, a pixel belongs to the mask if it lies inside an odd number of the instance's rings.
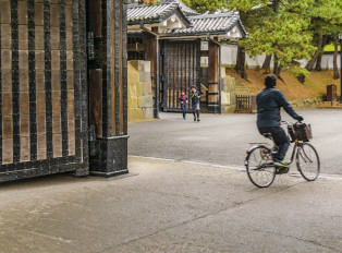
{"label": "dark studded base of the tall foreground gate pillar", "polygon": [[114,177],[129,173],[129,135],[96,140],[96,152],[90,156],[90,174]]}

